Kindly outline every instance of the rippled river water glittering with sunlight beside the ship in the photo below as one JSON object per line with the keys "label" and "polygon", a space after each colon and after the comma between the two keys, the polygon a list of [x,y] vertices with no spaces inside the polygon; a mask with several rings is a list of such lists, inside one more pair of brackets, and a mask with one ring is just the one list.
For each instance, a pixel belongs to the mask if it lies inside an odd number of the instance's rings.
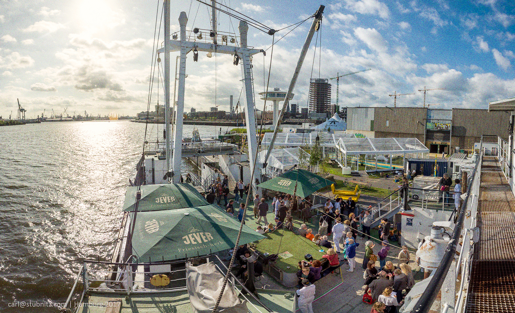
{"label": "rippled river water glittering with sunlight beside the ship", "polygon": [[[147,140],[162,129],[149,124]],[[220,127],[198,129],[212,137]],[[144,136],[145,124],[129,121],[0,127],[1,312],[57,312],[41,304],[65,302],[82,259],[109,259]]]}

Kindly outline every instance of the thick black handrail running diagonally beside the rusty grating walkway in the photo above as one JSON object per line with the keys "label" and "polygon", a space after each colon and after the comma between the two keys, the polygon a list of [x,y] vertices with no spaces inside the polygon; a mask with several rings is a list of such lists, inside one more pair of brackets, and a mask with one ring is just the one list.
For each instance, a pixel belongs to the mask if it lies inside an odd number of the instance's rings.
{"label": "thick black handrail running diagonally beside the rusty grating walkway", "polygon": [[[482,136],[483,139],[483,136]],[[480,151],[483,149],[483,140],[481,141],[480,145]],[[479,163],[483,159],[483,156],[480,156],[477,161],[476,165],[474,167],[474,171],[472,173],[471,181],[474,181],[474,178],[477,173],[477,168],[479,166]],[[436,296],[440,292],[440,289],[443,285],[443,281],[445,279],[445,276],[447,276],[447,273],[449,272],[449,269],[452,265],[452,261],[454,260],[454,255],[456,254],[456,246],[458,244],[461,230],[463,228],[463,223],[465,221],[465,212],[467,211],[467,205],[470,198],[470,191],[472,189],[472,184],[469,184],[467,186],[466,191],[466,197],[461,204],[460,212],[458,216],[458,220],[456,221],[456,226],[454,227],[453,233],[451,235],[451,240],[449,241],[449,244],[447,245],[447,249],[445,249],[445,253],[443,255],[442,261],[440,262],[440,265],[435,270],[434,275],[431,278],[431,281],[429,284],[427,284],[426,290],[428,292],[422,293],[420,298],[418,299],[417,303],[415,304],[412,312],[417,313],[427,313],[431,309],[431,305],[435,302]]]}

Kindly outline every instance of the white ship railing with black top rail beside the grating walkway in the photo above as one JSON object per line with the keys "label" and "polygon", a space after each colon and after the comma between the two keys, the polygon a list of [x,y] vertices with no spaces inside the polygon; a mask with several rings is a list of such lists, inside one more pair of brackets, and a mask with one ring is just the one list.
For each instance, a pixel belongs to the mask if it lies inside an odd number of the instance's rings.
{"label": "white ship railing with black top rail beside the grating walkway", "polygon": [[[445,249],[439,266],[431,272],[431,275],[424,279],[424,282],[417,283],[411,290],[416,290],[417,285],[426,284],[423,292],[406,296],[409,300],[401,307],[401,312],[427,313],[439,306],[442,313],[464,312],[467,307],[467,295],[469,291],[470,274],[472,269],[472,252],[476,242],[476,210],[480,185],[481,162],[485,150],[483,150],[483,136],[480,144],[479,157],[474,169],[467,175],[467,190],[464,199],[458,210],[453,211],[449,221],[454,222],[454,229],[450,236],[449,244]],[[465,177],[465,176],[464,176]],[[459,256],[457,247],[461,243]],[[427,281],[426,281],[427,280]],[[456,289],[456,282],[459,281],[459,291]],[[438,301],[437,298],[441,296]]]}

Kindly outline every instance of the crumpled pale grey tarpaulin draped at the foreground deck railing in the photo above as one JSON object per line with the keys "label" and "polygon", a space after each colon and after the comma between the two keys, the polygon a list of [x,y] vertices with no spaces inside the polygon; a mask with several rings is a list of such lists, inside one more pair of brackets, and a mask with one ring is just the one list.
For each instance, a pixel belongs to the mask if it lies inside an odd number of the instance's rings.
{"label": "crumpled pale grey tarpaulin draped at the foreground deck railing", "polygon": [[[213,262],[199,266],[186,266],[186,287],[195,313],[211,313],[224,285],[222,275]],[[247,313],[247,300],[238,298],[236,290],[227,284],[218,306],[224,313]]]}

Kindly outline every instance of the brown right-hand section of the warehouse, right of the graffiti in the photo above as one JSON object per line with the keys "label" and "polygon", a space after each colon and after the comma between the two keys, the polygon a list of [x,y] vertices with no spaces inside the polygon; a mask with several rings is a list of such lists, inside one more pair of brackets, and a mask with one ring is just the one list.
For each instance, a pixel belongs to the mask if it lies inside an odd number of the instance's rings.
{"label": "brown right-hand section of the warehouse, right of the graffiti", "polygon": [[[509,112],[481,109],[453,109],[451,146],[472,150],[481,135],[496,135],[508,140]],[[494,138],[487,138],[487,140]]]}

